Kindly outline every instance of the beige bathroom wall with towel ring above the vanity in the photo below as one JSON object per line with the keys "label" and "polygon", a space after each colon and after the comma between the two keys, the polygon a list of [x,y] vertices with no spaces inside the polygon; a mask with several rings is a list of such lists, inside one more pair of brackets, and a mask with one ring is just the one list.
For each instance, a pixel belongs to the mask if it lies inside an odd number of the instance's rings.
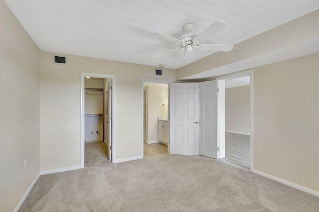
{"label": "beige bathroom wall with towel ring above the vanity", "polygon": [[167,117],[167,107],[163,108],[162,105],[168,104],[168,89],[165,87],[147,86],[147,140],[158,141],[159,140],[159,116]]}

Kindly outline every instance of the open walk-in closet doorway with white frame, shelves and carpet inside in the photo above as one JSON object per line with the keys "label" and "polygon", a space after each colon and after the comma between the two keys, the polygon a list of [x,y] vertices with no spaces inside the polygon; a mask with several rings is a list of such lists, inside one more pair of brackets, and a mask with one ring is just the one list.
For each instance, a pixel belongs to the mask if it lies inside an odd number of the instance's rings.
{"label": "open walk-in closet doorway with white frame, shelves and carpet inside", "polygon": [[113,84],[113,76],[81,73],[81,168],[112,161]]}

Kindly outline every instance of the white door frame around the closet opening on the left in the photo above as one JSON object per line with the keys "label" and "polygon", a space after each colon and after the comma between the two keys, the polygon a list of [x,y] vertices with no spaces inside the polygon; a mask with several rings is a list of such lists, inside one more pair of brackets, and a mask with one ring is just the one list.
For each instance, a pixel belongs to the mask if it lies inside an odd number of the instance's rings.
{"label": "white door frame around the closet opening on the left", "polygon": [[83,73],[81,72],[81,148],[80,148],[80,152],[81,152],[81,156],[80,156],[80,166],[81,168],[84,168],[84,92],[85,92],[85,85],[84,85],[84,78],[85,77],[95,77],[95,78],[103,78],[103,79],[111,79],[112,80],[112,163],[113,161],[115,161],[116,159],[116,155],[115,155],[115,146],[116,146],[116,139],[115,139],[115,132],[116,132],[116,113],[115,113],[115,76],[113,75],[102,75],[102,74],[93,74],[93,73]]}

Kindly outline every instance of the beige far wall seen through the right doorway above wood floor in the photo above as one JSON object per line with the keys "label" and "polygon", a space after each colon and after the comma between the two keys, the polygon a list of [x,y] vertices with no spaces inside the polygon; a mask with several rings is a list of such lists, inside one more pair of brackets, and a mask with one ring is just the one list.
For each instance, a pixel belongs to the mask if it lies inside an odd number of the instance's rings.
{"label": "beige far wall seen through the right doorway above wood floor", "polygon": [[225,130],[250,134],[250,86],[225,89]]}

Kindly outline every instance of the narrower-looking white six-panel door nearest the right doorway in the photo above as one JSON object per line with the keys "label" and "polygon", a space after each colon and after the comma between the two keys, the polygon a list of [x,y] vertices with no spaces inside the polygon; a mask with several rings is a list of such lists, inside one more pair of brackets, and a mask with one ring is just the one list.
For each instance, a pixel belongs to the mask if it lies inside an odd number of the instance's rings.
{"label": "narrower-looking white six-panel door nearest the right doorway", "polygon": [[199,83],[199,155],[218,158],[216,80]]}

